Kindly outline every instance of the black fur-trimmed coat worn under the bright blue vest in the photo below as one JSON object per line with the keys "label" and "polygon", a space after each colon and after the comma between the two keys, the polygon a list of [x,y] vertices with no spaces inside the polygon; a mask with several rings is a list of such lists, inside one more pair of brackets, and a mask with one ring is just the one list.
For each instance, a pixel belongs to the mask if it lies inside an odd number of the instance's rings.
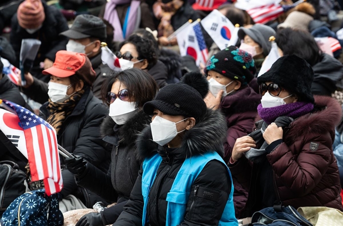
{"label": "black fur-trimmed coat worn under the bright blue vest", "polygon": [[[167,211],[167,193],[172,188],[175,177],[187,157],[196,156],[208,151],[216,151],[222,156],[222,141],[226,127],[224,118],[219,111],[207,109],[196,125],[183,134],[182,145],[179,148],[167,148],[152,141],[151,129],[148,126],[138,138],[138,156],[141,159],[150,157],[156,152],[162,157],[158,166],[154,183],[150,188],[147,204],[147,220],[149,225],[165,225]],[[204,137],[206,139],[204,139]],[[232,182],[226,166],[217,160],[209,161],[195,179],[190,188],[184,222],[181,225],[217,225],[226,205]],[[131,192],[130,200],[124,207],[124,212],[113,225],[142,225],[143,196],[142,168],[136,184]],[[196,186],[218,194],[217,201],[208,201],[194,195]],[[195,192],[196,193],[196,192]],[[195,198],[196,197],[196,198]],[[193,202],[193,204],[192,204]],[[192,206],[192,212],[190,211]]]}

